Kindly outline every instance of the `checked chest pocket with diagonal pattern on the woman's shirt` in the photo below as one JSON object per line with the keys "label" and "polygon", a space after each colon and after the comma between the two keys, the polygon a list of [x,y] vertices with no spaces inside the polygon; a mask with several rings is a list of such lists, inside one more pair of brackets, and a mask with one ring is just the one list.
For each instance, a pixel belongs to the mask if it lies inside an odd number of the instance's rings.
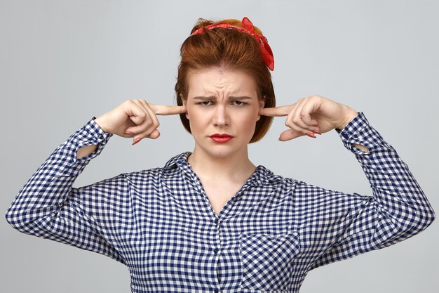
{"label": "checked chest pocket with diagonal pattern on the woman's shirt", "polygon": [[264,233],[241,233],[241,288],[261,291],[288,289],[293,261],[299,250],[299,233],[290,226]]}

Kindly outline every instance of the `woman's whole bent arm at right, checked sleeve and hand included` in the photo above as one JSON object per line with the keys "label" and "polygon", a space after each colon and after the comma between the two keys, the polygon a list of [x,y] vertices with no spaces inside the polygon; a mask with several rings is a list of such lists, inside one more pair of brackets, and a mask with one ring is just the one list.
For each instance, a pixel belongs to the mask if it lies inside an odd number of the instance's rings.
{"label": "woman's whole bent arm at right, checked sleeve and hand included", "polygon": [[313,261],[310,268],[405,240],[435,219],[407,165],[363,114],[321,96],[260,113],[287,116],[285,125],[290,129],[283,131],[281,141],[304,135],[316,138],[315,134],[336,129],[372,187],[372,196],[362,196],[297,184],[293,197],[297,209],[306,214],[301,237],[305,259]]}

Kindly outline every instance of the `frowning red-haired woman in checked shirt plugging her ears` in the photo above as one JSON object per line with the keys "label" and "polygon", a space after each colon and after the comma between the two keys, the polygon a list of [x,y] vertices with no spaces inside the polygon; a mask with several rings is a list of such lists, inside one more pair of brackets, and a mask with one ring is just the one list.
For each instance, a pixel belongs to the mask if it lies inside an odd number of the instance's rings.
{"label": "frowning red-haired woman in checked shirt plugging her ears", "polygon": [[[248,18],[201,20],[181,48],[177,106],[128,100],[91,119],[20,190],[6,219],[23,233],[126,264],[132,292],[299,292],[308,271],[392,245],[434,212],[396,151],[363,113],[321,96],[275,107],[273,56]],[[193,152],[163,168],[72,184],[113,135],[158,138],[157,115],[179,114]],[[325,190],[256,167],[248,143],[273,117],[281,136],[335,129],[372,195]]]}

